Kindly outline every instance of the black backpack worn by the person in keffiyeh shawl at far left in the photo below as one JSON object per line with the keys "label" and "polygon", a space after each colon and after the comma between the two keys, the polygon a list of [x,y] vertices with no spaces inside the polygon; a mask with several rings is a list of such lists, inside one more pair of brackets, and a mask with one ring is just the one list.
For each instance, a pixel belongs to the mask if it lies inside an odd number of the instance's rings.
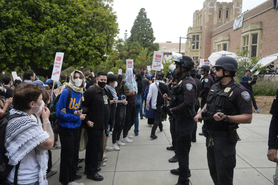
{"label": "black backpack worn by the person in keffiyeh shawl at far left", "polygon": [[[0,121],[0,180],[4,180],[9,175],[12,168],[14,167],[13,165],[8,164],[9,159],[5,155],[5,153],[7,151],[4,146],[4,141],[5,141],[5,131],[6,131],[6,127],[8,125],[8,121],[10,121],[11,119],[14,119],[16,117],[22,117],[22,116],[23,115],[21,115],[21,114],[14,114],[14,115],[10,116],[10,113],[8,113],[8,115],[5,118],[1,119],[1,121]],[[18,172],[19,164],[20,164],[20,161],[16,165],[16,168],[15,168],[14,184],[17,184],[17,172]]]}

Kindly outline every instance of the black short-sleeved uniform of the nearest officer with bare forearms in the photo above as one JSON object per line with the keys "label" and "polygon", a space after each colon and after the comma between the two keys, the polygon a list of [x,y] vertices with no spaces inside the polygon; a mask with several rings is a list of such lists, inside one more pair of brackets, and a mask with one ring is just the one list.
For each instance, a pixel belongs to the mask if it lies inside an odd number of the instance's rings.
{"label": "black short-sleeved uniform of the nearest officer with bare forearms", "polygon": [[[206,109],[202,117],[213,116],[216,112],[225,115],[252,113],[252,102],[246,88],[234,79],[222,85],[218,82],[211,87]],[[237,123],[205,120],[202,127],[206,137],[207,160],[211,178],[215,185],[232,185],[236,164]]]}

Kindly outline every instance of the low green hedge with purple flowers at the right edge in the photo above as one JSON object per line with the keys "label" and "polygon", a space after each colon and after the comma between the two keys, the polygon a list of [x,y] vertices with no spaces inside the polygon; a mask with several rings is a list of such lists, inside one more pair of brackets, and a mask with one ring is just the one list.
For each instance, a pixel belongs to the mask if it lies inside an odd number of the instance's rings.
{"label": "low green hedge with purple flowers at the right edge", "polygon": [[257,96],[275,96],[277,88],[277,81],[260,80],[253,85],[254,95]]}

